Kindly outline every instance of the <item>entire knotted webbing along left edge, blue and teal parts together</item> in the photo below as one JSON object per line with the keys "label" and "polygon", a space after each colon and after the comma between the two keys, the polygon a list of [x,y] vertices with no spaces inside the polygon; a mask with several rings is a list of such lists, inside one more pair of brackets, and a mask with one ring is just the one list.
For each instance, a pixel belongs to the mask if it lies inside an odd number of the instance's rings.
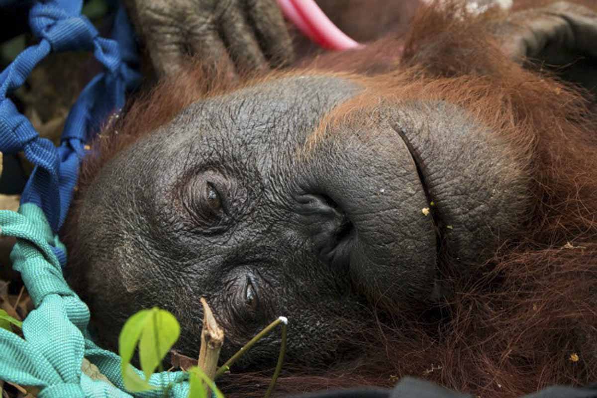
{"label": "entire knotted webbing along left edge, blue and teal parts together", "polygon": [[[37,0],[29,23],[39,42],[0,73],[0,152],[24,152],[35,165],[21,195],[19,213],[0,211],[0,233],[17,237],[11,253],[35,310],[23,322],[24,339],[0,329],[0,380],[41,388],[41,398],[130,397],[122,391],[120,358],[93,343],[87,331],[88,307],[69,288],[62,270],[66,249],[57,232],[72,200],[85,143],[100,125],[125,103],[125,94],[139,84],[131,65],[137,63],[134,35],[122,8],[112,39],[99,36],[81,16],[82,0]],[[93,51],[104,66],[84,88],[70,110],[60,146],[39,137],[32,124],[8,98],[36,64],[51,52]],[[87,357],[113,383],[82,374]],[[153,375],[150,383],[170,388],[170,396],[186,397],[188,383],[181,372]],[[163,396],[153,390],[137,396]]]}

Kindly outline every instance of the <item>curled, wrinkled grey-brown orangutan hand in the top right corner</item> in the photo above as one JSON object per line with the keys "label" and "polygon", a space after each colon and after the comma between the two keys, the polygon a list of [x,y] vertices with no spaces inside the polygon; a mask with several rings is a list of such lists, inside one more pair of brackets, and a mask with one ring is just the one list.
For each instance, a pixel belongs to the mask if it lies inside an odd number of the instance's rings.
{"label": "curled, wrinkled grey-brown orangutan hand in the top right corner", "polygon": [[597,91],[597,12],[561,1],[513,13],[495,28],[513,60]]}

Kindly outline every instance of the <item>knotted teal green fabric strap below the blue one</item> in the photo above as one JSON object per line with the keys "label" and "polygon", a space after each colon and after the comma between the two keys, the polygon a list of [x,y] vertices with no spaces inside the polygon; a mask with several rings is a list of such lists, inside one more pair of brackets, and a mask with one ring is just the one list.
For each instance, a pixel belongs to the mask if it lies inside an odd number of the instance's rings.
{"label": "knotted teal green fabric strap below the blue one", "polygon": [[[35,309],[23,321],[23,337],[0,329],[0,380],[41,389],[41,398],[186,398],[189,383],[183,372],[152,375],[156,390],[124,392],[120,357],[97,347],[87,326],[88,307],[64,280],[53,247],[64,249],[41,208],[24,203],[19,213],[0,211],[0,233],[17,237],[11,253],[13,268],[21,273]],[[81,371],[83,357],[113,383],[91,380]],[[141,372],[137,370],[141,375]]]}

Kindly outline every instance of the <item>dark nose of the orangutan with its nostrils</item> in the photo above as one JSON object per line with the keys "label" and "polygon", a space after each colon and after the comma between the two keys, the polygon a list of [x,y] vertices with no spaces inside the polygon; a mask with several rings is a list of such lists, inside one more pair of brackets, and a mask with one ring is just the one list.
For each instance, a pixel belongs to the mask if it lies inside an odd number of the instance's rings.
{"label": "dark nose of the orangutan with its nostrils", "polygon": [[327,195],[301,195],[298,213],[315,254],[333,266],[347,266],[353,226],[346,213]]}

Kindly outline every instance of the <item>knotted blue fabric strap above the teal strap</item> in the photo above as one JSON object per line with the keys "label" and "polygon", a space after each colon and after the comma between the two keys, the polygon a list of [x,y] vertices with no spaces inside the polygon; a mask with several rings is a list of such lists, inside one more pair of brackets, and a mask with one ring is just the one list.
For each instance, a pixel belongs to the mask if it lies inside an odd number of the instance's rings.
{"label": "knotted blue fabric strap above the teal strap", "polygon": [[[44,210],[56,233],[66,218],[78,177],[84,145],[112,112],[124,106],[125,93],[139,84],[133,32],[123,8],[116,18],[113,36],[105,39],[87,17],[81,16],[82,0],[37,1],[29,14],[39,43],[27,48],[0,74],[0,151],[23,151],[35,165],[21,203],[35,203]],[[104,72],[85,87],[69,116],[56,148],[40,138],[7,95],[23,85],[32,69],[51,51],[89,50]],[[61,263],[64,254],[56,253]]]}

